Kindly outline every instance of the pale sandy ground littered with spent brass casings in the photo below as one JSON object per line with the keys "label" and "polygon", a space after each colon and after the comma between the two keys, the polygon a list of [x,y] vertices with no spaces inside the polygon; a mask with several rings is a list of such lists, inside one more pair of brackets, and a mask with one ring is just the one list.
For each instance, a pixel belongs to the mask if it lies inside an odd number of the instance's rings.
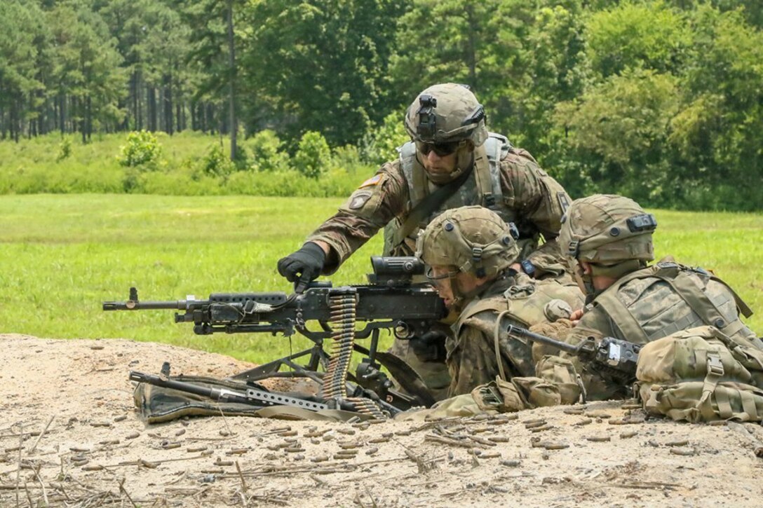
{"label": "pale sandy ground littered with spent brass casings", "polygon": [[175,374],[250,367],[124,339],[0,335],[0,506],[763,503],[758,425],[644,421],[607,402],[436,423],[146,426],[127,371],[156,374],[166,360]]}

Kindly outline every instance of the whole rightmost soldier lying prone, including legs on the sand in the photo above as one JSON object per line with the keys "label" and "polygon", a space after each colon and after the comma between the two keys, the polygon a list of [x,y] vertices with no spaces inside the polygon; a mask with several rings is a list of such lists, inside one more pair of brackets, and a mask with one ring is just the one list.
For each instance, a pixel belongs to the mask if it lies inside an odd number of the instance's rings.
{"label": "whole rightmost soldier lying prone, including legs on the sand", "polygon": [[[763,351],[763,342],[739,318],[739,313],[749,317],[752,311],[725,282],[702,268],[679,265],[668,258],[647,265],[654,259],[652,233],[656,227],[655,217],[629,198],[594,195],[573,201],[563,219],[559,244],[588,304],[573,313],[573,320],[578,321],[575,326],[569,320],[558,320],[536,325],[536,331],[571,344],[607,336],[646,344],[707,325],[746,348],[753,360],[761,358],[755,351]],[[496,332],[499,329],[505,330],[505,326],[496,326]],[[631,396],[630,387],[617,373],[557,353],[559,350],[549,346],[533,345],[533,359],[539,361],[536,377],[499,376],[471,394],[443,400],[431,410],[404,413],[401,419],[574,404],[581,391],[588,400]],[[526,369],[520,375],[527,376]],[[575,390],[575,381],[581,391]]]}

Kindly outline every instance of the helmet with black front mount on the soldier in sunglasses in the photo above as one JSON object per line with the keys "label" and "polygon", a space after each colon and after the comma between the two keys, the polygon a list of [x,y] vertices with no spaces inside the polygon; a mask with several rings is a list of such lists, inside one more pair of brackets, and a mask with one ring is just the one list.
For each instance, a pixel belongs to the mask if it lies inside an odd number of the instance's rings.
{"label": "helmet with black front mount on the soldier in sunglasses", "polygon": [[435,145],[469,140],[481,146],[488,139],[485,108],[467,86],[456,83],[421,92],[405,114],[405,130],[414,142]]}

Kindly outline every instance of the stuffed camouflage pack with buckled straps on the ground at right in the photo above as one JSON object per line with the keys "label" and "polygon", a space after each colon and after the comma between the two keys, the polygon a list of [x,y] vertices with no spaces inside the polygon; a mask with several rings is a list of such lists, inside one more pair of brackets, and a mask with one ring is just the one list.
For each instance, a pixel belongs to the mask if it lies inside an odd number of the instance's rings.
{"label": "stuffed camouflage pack with buckled straps on the ground at right", "polygon": [[691,423],[763,420],[763,350],[714,326],[649,342],[639,352],[636,378],[652,415]]}

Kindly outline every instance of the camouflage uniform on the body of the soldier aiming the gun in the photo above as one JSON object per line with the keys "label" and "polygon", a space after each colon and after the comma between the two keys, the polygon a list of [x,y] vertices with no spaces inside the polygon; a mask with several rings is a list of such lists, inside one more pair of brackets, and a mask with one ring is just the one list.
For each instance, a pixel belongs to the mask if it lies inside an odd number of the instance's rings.
{"label": "camouflage uniform on the body of the soldier aiming the gun", "polygon": [[[470,302],[454,326],[456,339],[446,342],[447,365],[451,375],[448,396],[468,394],[501,373],[495,351],[495,325],[501,323],[530,327],[567,318],[583,305],[583,294],[575,285],[552,279],[536,281],[527,275],[502,278],[480,298]],[[535,375],[532,344],[523,339],[501,336],[498,341],[505,377]]]}

